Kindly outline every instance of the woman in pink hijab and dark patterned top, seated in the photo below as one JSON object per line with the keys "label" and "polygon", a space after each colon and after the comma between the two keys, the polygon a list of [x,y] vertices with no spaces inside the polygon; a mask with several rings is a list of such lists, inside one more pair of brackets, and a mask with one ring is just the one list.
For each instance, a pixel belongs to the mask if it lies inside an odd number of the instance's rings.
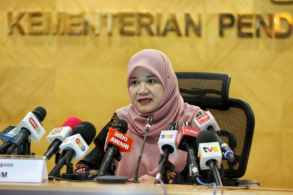
{"label": "woman in pink hijab and dark patterned top, seated", "polygon": [[[153,117],[138,170],[138,181],[141,183],[154,183],[154,176],[159,168],[160,151],[157,143],[161,131],[168,130],[171,122],[176,122],[179,126],[183,122],[190,122],[197,128],[193,119],[200,108],[183,102],[175,72],[163,52],[144,49],[134,54],[127,67],[127,86],[131,104],[116,110],[112,120],[95,138],[96,147],[76,165],[76,171],[81,172],[85,179],[92,179],[98,174],[105,155],[103,148],[107,130],[118,119],[127,122],[126,134],[133,138],[133,143],[131,152],[122,153],[123,158],[116,166],[116,175],[133,178],[145,134],[145,123],[148,116]],[[175,165],[176,173],[183,170],[186,158],[187,152],[182,150],[179,150],[178,156],[169,156],[169,161]],[[171,180],[169,183],[172,183]]]}

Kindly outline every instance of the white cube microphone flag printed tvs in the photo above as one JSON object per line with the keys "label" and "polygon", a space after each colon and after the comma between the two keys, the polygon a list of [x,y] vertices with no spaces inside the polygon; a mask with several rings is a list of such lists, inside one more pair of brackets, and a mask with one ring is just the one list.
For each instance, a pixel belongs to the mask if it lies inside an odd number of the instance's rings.
{"label": "white cube microphone flag printed tvs", "polygon": [[208,160],[217,160],[218,168],[221,168],[222,152],[219,142],[200,143],[198,145],[197,157],[200,160],[200,169],[209,169],[206,165]]}

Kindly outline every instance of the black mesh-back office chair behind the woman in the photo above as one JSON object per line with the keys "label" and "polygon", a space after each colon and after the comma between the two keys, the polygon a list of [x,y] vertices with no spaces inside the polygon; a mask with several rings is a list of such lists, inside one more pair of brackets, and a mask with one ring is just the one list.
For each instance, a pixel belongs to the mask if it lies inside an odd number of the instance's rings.
{"label": "black mesh-back office chair behind the woman", "polygon": [[222,160],[225,177],[228,178],[226,185],[259,185],[254,180],[236,179],[246,171],[254,130],[254,114],[245,101],[229,98],[230,76],[203,72],[176,72],[176,76],[184,102],[211,112],[221,129],[222,140],[234,151],[234,162]]}

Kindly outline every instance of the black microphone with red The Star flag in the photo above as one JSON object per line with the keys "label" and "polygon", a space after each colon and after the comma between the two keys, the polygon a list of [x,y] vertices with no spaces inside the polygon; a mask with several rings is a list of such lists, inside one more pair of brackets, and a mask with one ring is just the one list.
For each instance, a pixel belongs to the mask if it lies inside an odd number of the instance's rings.
{"label": "black microphone with red The Star flag", "polygon": [[196,161],[195,140],[200,130],[191,127],[189,122],[184,122],[176,137],[177,148],[187,151],[191,162],[193,176],[199,176],[198,165]]}

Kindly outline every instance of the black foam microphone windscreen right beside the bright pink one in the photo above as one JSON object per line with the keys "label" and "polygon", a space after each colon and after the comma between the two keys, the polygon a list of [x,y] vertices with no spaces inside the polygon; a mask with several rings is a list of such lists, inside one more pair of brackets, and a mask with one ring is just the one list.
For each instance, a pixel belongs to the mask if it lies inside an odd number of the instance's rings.
{"label": "black foam microphone windscreen right beside the bright pink one", "polygon": [[81,122],[79,123],[72,131],[71,135],[80,134],[82,138],[84,138],[84,141],[89,146],[93,138],[96,136],[96,128],[91,124],[90,122]]}

